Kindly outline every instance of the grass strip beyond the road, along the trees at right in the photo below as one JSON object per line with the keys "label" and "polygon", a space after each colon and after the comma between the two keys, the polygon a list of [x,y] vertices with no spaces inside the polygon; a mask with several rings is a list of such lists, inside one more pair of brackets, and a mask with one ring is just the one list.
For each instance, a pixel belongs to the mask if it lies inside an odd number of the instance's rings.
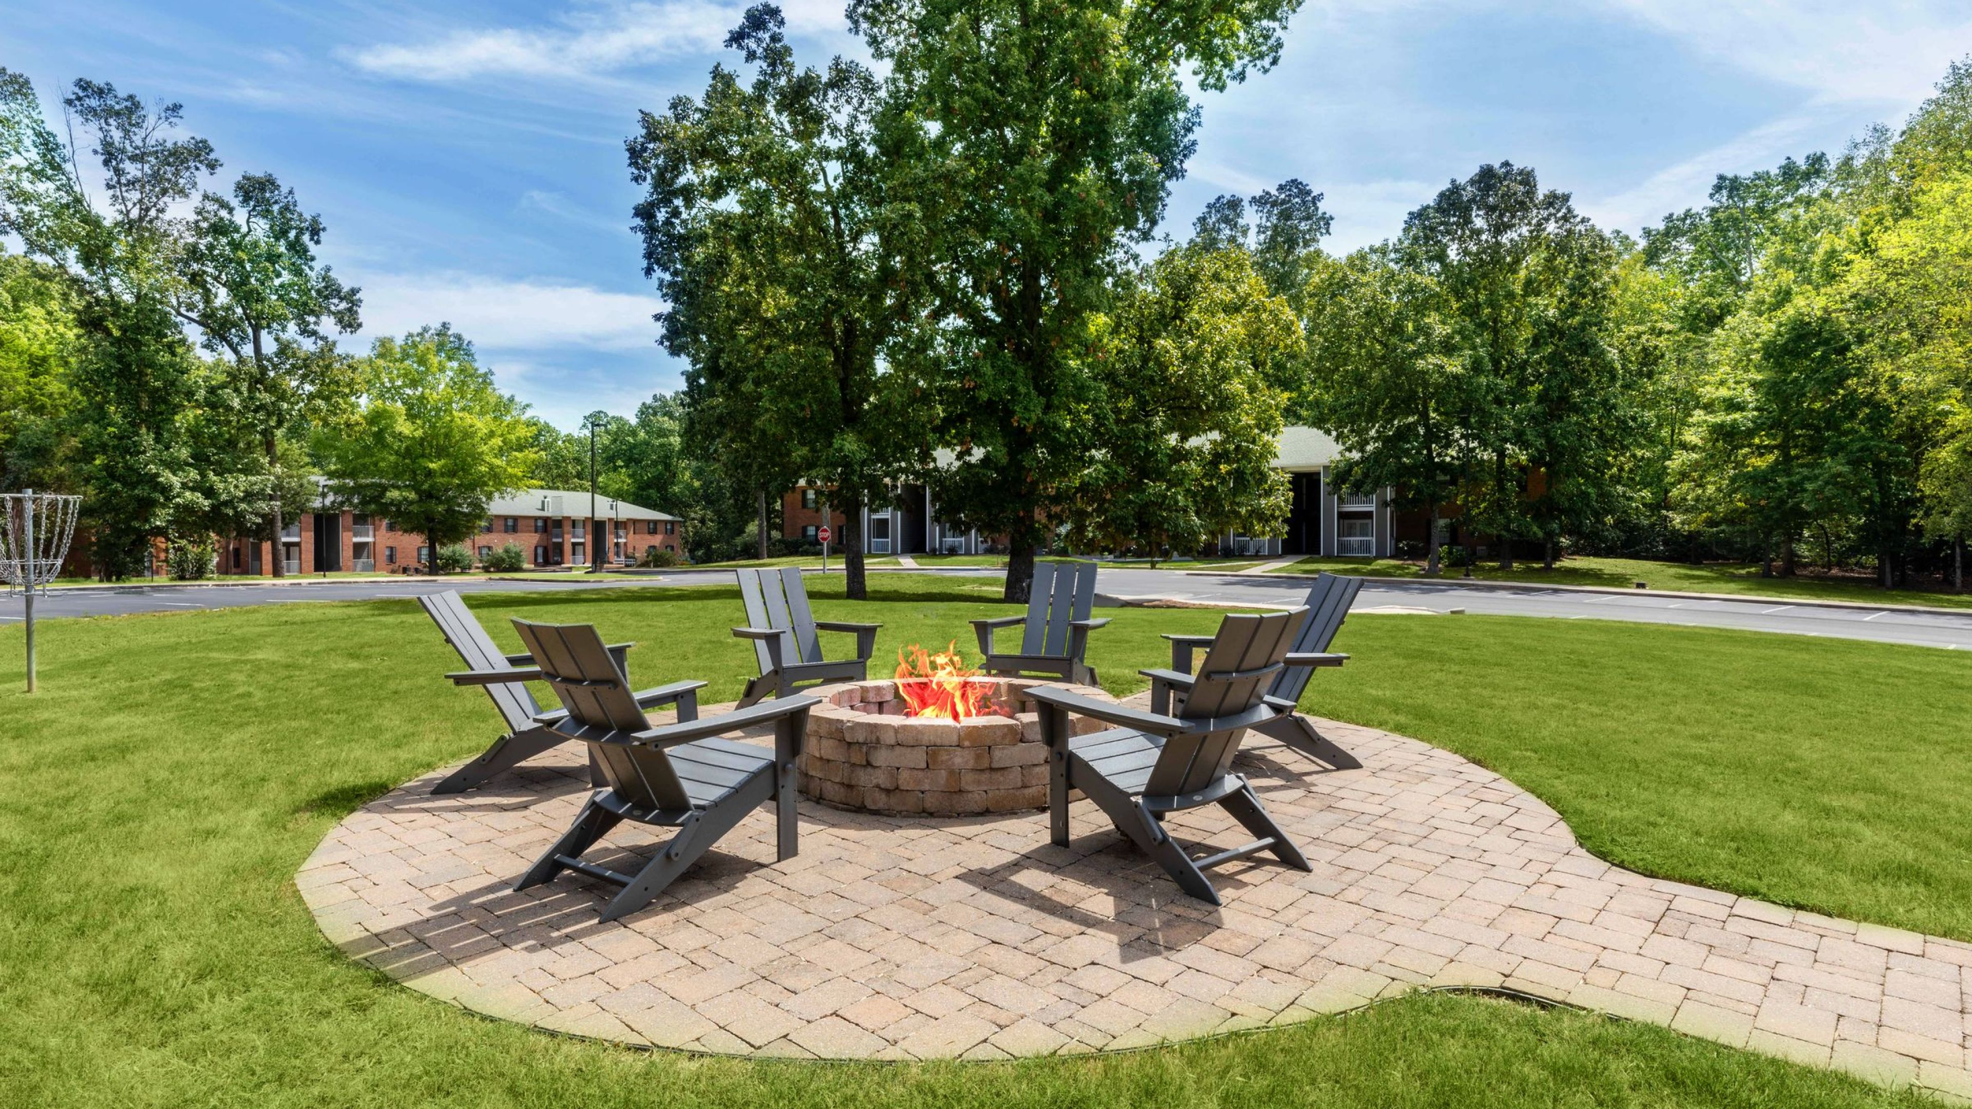
{"label": "grass strip beyond the road, along the trees at right", "polygon": [[[1292,566],[1272,572],[1317,574],[1321,570],[1365,578],[1422,578],[1424,562],[1398,558],[1302,558]],[[1440,578],[1453,580],[1463,572],[1459,566],[1445,566]],[[1487,582],[1524,582],[1530,586],[1611,586],[1627,590],[1635,582],[1645,582],[1653,590],[1672,592],[1972,608],[1972,592],[1885,590],[1852,576],[1824,578],[1820,574],[1800,574],[1795,578],[1761,578],[1757,562],[1706,562],[1692,566],[1690,562],[1651,562],[1647,558],[1564,558],[1552,570],[1542,570],[1536,558],[1532,562],[1514,562],[1511,574],[1503,574],[1499,562],[1481,562],[1473,566],[1473,576]]]}

